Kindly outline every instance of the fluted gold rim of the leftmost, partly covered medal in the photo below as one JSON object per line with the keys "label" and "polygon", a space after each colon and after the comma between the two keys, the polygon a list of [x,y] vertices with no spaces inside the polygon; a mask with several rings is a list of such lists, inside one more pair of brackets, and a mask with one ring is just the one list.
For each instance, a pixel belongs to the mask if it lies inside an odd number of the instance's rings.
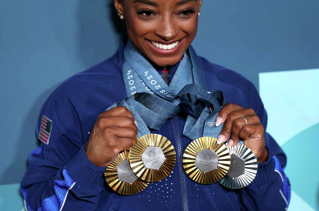
{"label": "fluted gold rim of the leftmost, partly covered medal", "polygon": [[105,179],[108,183],[108,185],[117,193],[123,194],[123,195],[133,195],[136,193],[139,193],[143,191],[147,185],[148,182],[137,178],[133,183],[127,183],[119,180],[118,174],[117,174],[117,166],[120,165],[124,160],[129,160],[129,151],[130,150],[124,150],[122,151],[115,160],[109,164],[104,172]]}

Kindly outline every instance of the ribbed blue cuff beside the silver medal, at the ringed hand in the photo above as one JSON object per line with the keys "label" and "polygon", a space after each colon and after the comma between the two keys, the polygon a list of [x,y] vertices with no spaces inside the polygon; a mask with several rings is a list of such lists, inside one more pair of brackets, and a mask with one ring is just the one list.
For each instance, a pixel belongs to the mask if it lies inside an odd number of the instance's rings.
{"label": "ribbed blue cuff beside the silver medal, at the ringed hand", "polygon": [[272,158],[268,150],[268,158],[266,161],[258,164],[258,171],[251,185],[264,185],[272,182],[275,172],[275,160]]}

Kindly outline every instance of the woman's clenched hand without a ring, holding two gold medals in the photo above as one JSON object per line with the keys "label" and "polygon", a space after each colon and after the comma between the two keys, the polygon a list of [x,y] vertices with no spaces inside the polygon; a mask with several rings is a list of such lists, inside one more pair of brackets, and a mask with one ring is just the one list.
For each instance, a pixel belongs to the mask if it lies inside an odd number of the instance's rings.
{"label": "woman's clenched hand without a ring, holding two gold medals", "polygon": [[101,113],[85,145],[85,153],[96,166],[111,164],[124,149],[137,142],[137,122],[124,106]]}

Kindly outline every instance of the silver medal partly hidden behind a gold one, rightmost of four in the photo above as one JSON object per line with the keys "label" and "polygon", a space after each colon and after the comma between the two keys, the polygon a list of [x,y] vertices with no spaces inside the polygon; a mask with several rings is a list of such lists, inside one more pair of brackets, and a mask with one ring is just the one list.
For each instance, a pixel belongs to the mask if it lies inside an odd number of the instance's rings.
{"label": "silver medal partly hidden behind a gold one, rightmost of four", "polygon": [[232,189],[248,186],[257,174],[257,157],[241,143],[237,143],[228,149],[231,157],[230,168],[219,183]]}

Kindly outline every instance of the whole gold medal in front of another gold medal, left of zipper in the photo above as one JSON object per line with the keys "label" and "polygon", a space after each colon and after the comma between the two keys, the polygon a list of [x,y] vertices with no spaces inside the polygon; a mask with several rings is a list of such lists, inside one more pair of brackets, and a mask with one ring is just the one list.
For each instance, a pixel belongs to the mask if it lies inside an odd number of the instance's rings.
{"label": "whole gold medal in front of another gold medal, left of zipper", "polygon": [[166,178],[174,168],[176,153],[172,143],[162,135],[140,137],[129,152],[130,167],[145,181],[156,182]]}

